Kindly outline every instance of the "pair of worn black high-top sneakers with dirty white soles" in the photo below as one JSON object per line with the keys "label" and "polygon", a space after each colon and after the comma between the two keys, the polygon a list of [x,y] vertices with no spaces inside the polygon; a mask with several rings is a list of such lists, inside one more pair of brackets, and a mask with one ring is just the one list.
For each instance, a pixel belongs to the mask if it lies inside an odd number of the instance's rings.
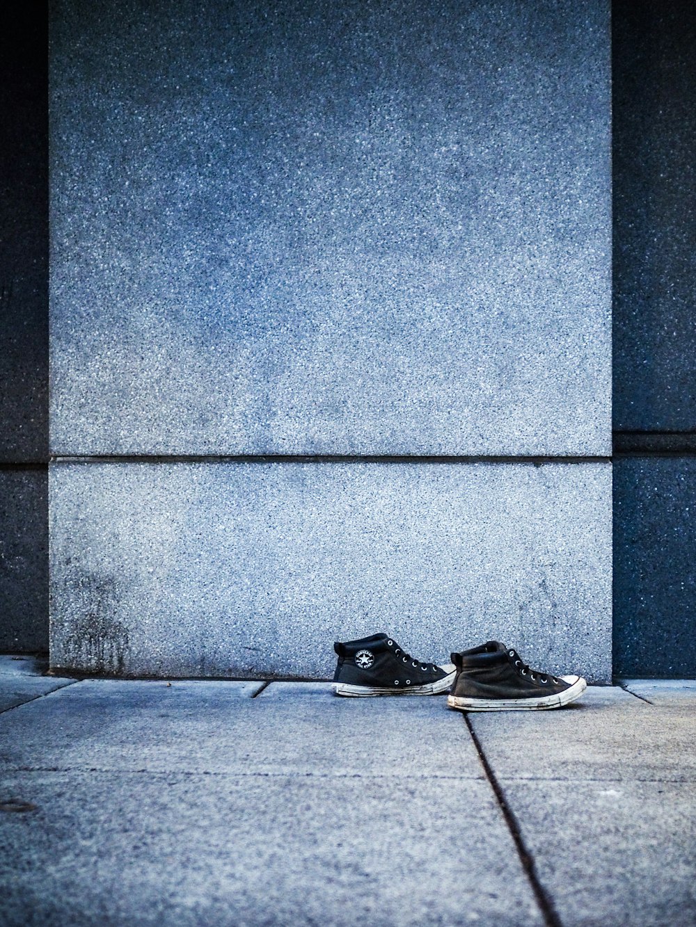
{"label": "pair of worn black high-top sneakers with dirty white soles", "polygon": [[393,638],[373,634],[359,641],[336,642],[337,695],[438,695],[459,711],[509,711],[560,708],[587,688],[580,676],[553,676],[530,669],[520,654],[499,641],[487,641],[460,654],[451,664],[421,663]]}

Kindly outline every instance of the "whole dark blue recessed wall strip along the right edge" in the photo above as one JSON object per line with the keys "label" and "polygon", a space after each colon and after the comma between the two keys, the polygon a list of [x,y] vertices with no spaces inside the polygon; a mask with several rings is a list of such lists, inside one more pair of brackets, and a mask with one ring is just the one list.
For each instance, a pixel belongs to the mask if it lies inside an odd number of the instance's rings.
{"label": "whole dark blue recessed wall strip along the right edge", "polygon": [[615,669],[696,676],[696,11],[613,24]]}

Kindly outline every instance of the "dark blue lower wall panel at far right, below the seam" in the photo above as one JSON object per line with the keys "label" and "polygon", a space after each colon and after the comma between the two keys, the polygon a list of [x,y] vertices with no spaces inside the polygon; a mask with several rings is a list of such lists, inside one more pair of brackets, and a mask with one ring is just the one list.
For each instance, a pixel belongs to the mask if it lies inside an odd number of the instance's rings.
{"label": "dark blue lower wall panel at far right, below the seam", "polygon": [[614,463],[614,665],[696,678],[696,458]]}

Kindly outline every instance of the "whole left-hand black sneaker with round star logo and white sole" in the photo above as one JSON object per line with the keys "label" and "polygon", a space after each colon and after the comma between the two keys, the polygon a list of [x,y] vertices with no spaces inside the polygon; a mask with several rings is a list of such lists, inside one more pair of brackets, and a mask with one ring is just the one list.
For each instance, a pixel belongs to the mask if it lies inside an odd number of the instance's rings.
{"label": "whole left-hand black sneaker with round star logo and white sole", "polygon": [[336,642],[333,649],[339,656],[337,695],[437,695],[455,678],[455,667],[414,660],[386,634]]}

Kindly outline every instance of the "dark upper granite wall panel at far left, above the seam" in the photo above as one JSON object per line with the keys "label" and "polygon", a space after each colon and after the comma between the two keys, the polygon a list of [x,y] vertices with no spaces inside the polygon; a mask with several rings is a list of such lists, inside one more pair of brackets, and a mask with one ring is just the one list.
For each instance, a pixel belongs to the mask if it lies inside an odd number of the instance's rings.
{"label": "dark upper granite wall panel at far left, above the seam", "polygon": [[37,16],[35,7],[19,5],[12,17],[3,21],[0,35],[0,462],[48,459],[45,46],[45,22]]}

